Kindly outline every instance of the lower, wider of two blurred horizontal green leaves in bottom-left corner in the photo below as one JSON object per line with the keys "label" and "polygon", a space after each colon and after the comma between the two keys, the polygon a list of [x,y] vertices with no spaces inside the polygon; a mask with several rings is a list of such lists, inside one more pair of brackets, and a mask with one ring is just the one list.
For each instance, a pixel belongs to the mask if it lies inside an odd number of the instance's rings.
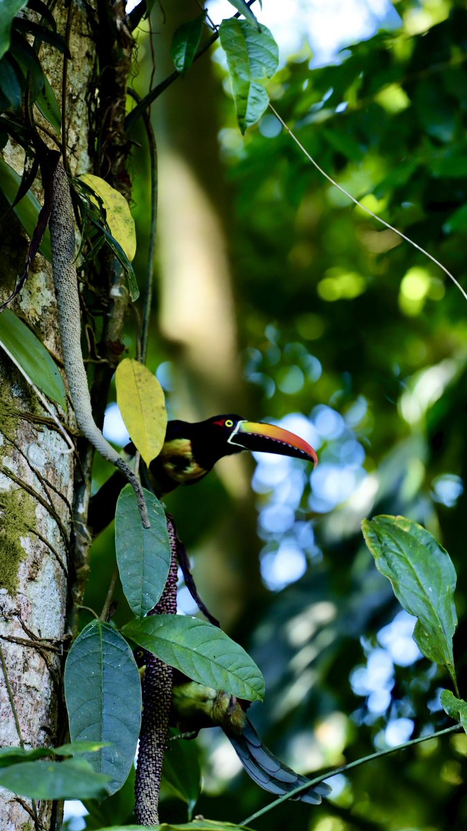
{"label": "lower, wider of two blurred horizontal green leaves in bottom-left corner", "polygon": [[22,762],[0,770],[0,785],[31,799],[91,799],[106,796],[110,776],[84,759]]}

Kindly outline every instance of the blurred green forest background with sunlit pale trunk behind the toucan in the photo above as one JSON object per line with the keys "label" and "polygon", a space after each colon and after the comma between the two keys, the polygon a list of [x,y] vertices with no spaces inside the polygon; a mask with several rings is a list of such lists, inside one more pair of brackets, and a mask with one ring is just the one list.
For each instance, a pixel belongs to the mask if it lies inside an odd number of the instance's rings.
{"label": "blurred green forest background with sunlit pale trunk behind the toucan", "polygon": [[[265,0],[258,10],[281,47],[274,107],[330,175],[465,286],[465,4],[320,7]],[[173,33],[197,13],[181,0],[155,6],[152,47],[147,22],[140,31],[140,95],[170,74]],[[217,23],[230,14],[209,5]],[[229,95],[211,50],[152,109],[159,282],[148,364],[170,417],[280,420],[318,449],[311,475],[298,460],[236,457],[166,499],[201,596],[266,677],[255,725],[310,774],[449,721],[439,701],[448,679],[420,657],[361,519],[405,514],[450,551],[465,696],[465,302],[434,263],[322,179],[271,111],[242,137]],[[149,168],[140,125],[132,137],[142,283]],[[127,346],[133,354],[130,336]],[[116,439],[112,406],[106,423]],[[92,607],[106,594],[112,544],[109,530],[94,546]],[[179,605],[195,611],[184,588]],[[118,622],[125,614],[120,597]],[[199,745],[196,812],[234,822],[268,802],[215,730]],[[466,755],[465,735],[418,745],[332,779],[322,806],[284,804],[255,828],[464,831]],[[166,799],[165,821],[183,820],[184,804]],[[125,808],[114,806],[119,819]],[[70,827],[85,822],[97,827]]]}

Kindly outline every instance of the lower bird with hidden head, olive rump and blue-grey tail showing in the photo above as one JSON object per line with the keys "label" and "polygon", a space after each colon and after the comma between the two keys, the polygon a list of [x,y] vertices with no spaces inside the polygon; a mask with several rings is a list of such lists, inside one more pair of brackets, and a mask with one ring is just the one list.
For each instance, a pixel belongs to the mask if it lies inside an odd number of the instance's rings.
{"label": "lower bird with hidden head, olive rump and blue-grey tail showing", "polygon": [[[134,652],[142,678],[147,654],[139,648]],[[261,788],[283,796],[298,785],[306,784],[309,779],[284,765],[263,745],[246,714],[249,704],[249,701],[231,696],[225,690],[214,690],[191,681],[179,670],[174,670],[170,725],[180,730],[176,738],[194,739],[204,727],[221,727],[248,776]],[[322,796],[330,791],[328,784],[320,782],[291,799],[318,805]]]}

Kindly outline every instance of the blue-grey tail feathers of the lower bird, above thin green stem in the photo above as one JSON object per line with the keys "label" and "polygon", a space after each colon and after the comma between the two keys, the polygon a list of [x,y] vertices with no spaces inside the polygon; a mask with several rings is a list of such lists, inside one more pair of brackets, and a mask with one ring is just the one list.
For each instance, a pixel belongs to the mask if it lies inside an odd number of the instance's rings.
{"label": "blue-grey tail feathers of the lower bird, above thin green stem", "polygon": [[[297,774],[295,770],[284,765],[263,745],[258,733],[248,719],[245,721],[241,735],[234,735],[230,732],[226,732],[226,735],[234,746],[238,759],[248,775],[261,788],[268,790],[271,794],[278,794],[279,796],[289,794],[298,785],[309,781],[305,776]],[[330,786],[320,782],[311,790],[303,791],[302,794],[297,794],[291,799],[301,799],[302,802],[318,805],[322,797],[327,796],[330,792]]]}

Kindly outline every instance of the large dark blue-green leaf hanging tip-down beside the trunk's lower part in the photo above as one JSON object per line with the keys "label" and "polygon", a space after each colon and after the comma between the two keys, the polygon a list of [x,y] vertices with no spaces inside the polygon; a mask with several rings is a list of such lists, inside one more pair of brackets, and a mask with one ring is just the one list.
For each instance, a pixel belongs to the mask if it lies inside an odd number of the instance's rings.
{"label": "large dark blue-green leaf hanging tip-down beside the trunk's lower part", "polygon": [[141,684],[130,647],[108,623],[92,621],[66,659],[65,698],[71,740],[111,745],[88,756],[93,769],[110,774],[109,793],[125,782],[140,733]]}

